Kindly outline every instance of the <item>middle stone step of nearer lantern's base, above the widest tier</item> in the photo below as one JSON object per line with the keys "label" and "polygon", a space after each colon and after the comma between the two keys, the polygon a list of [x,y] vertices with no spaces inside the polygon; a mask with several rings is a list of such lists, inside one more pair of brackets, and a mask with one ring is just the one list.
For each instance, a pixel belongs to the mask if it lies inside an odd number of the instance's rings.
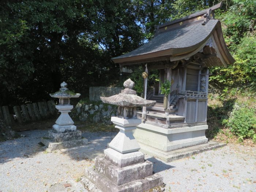
{"label": "middle stone step of nearer lantern's base, above the widest tier", "polygon": [[116,185],[139,180],[153,174],[153,163],[145,161],[125,167],[118,167],[105,158],[95,158],[95,170]]}

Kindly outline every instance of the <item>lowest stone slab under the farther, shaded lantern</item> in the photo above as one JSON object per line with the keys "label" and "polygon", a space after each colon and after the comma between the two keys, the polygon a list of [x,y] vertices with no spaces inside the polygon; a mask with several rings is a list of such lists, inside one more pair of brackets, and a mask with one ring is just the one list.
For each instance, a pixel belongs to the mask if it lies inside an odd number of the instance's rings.
{"label": "lowest stone slab under the farther, shaded lantern", "polygon": [[68,140],[63,142],[54,142],[52,139],[49,138],[41,138],[41,142],[48,147],[50,150],[59,150],[71,147],[78,147],[82,145],[86,145],[88,140],[86,138],[83,139],[76,139],[76,140]]}

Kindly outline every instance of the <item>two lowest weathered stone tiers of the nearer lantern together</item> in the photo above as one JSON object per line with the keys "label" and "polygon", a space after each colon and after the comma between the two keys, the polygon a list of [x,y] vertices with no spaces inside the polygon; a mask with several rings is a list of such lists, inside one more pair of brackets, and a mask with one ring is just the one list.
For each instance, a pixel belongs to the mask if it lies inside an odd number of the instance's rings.
{"label": "two lowest weathered stone tiers of the nearer lantern together", "polygon": [[152,174],[152,169],[153,163],[149,161],[121,168],[106,159],[95,158],[95,169],[86,168],[81,181],[85,188],[102,192],[148,191],[163,185],[163,177]]}

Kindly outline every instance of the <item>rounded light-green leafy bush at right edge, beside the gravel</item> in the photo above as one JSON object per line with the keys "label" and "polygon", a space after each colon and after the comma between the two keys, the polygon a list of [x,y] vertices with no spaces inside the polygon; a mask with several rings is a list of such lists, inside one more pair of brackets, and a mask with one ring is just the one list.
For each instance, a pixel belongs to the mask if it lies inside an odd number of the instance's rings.
{"label": "rounded light-green leafy bush at right edge, beside the gravel", "polygon": [[256,110],[236,103],[229,119],[223,120],[239,139],[252,138],[256,142]]}

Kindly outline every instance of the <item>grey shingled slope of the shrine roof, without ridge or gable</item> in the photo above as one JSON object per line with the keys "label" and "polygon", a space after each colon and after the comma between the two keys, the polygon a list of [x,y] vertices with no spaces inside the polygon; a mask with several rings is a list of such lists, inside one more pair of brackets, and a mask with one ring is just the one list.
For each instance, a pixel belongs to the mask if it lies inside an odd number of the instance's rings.
{"label": "grey shingled slope of the shrine roof, without ridge or gable", "polygon": [[214,30],[217,25],[217,22],[218,20],[210,20],[205,26],[201,25],[201,23],[196,23],[195,25],[177,27],[173,30],[157,35],[146,44],[129,53],[123,54],[119,57],[114,57],[113,60],[169,49],[169,53],[171,55],[174,52],[184,52],[184,49],[193,49],[194,46],[200,44],[211,34],[212,30]]}

